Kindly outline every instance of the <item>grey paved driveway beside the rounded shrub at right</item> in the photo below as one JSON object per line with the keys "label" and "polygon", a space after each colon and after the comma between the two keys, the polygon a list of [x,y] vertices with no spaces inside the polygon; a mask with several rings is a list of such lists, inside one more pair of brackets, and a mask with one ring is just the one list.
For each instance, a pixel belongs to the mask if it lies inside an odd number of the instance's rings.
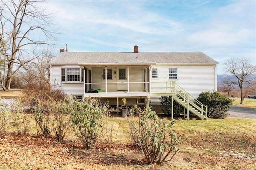
{"label": "grey paved driveway beside the rounded shrub at right", "polygon": [[246,107],[239,107],[232,105],[228,111],[230,115],[228,117],[244,117],[256,119],[256,109],[250,109]]}

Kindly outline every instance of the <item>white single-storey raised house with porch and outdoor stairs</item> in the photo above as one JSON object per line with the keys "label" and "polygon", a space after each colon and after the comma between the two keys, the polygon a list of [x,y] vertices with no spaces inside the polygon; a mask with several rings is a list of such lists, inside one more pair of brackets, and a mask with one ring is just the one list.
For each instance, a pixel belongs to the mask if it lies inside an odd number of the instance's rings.
{"label": "white single-storey raised house with porch and outdoor stairs", "polygon": [[128,105],[160,105],[160,96],[174,96],[204,119],[207,108],[190,105],[201,92],[217,90],[217,64],[202,52],[139,52],[138,46],[134,52],[61,50],[50,62],[50,83],[70,96],[108,99],[112,106],[122,105],[122,98]]}

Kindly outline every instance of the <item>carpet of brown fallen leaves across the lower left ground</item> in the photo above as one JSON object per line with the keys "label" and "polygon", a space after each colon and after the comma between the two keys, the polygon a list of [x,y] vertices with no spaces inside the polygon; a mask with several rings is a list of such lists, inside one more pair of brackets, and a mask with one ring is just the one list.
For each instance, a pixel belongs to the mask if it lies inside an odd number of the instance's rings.
{"label": "carpet of brown fallen leaves across the lower left ground", "polygon": [[[138,152],[138,153],[137,153]],[[132,153],[132,157],[126,155]],[[106,169],[119,164],[142,164],[135,158],[142,153],[131,144],[106,148],[99,143],[96,149],[86,150],[80,142],[58,142],[51,137],[6,135],[0,137],[0,169]],[[136,155],[136,156],[135,156]],[[86,167],[86,168],[84,168]],[[111,168],[112,169],[112,168]]]}

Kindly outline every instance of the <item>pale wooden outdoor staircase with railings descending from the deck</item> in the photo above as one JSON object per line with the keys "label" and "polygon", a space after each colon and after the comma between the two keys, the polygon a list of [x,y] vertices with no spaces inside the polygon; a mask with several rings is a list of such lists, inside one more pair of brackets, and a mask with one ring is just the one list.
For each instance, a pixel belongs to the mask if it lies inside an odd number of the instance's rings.
{"label": "pale wooden outdoor staircase with railings descending from the deck", "polygon": [[[207,106],[196,100],[178,84],[175,84],[173,99],[187,109],[187,119],[189,119],[189,111],[200,117],[202,120],[207,119]],[[185,113],[184,113],[185,117]]]}

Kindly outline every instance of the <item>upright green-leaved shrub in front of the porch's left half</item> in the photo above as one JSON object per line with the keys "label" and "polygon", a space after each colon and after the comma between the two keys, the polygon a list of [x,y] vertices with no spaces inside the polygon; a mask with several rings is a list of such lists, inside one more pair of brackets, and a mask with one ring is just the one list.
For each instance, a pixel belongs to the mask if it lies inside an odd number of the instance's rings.
{"label": "upright green-leaved shrub in front of the porch's left half", "polygon": [[104,114],[108,104],[100,105],[97,100],[89,102],[73,100],[72,122],[74,132],[86,149],[94,148],[103,128]]}

